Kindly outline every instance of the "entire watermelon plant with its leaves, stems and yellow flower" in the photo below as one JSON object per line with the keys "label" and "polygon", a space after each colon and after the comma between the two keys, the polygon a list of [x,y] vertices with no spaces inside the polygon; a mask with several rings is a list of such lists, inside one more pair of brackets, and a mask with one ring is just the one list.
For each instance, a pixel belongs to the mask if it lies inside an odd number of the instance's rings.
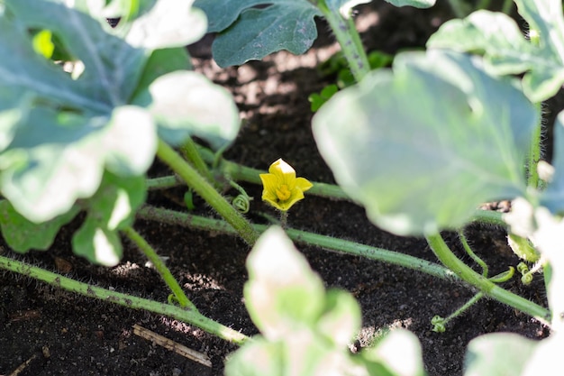
{"label": "entire watermelon plant with its leaves, stems and yellow flower", "polygon": [[[296,178],[283,161],[266,173],[222,159],[240,124],[229,93],[189,70],[184,46],[206,31],[204,12],[193,2],[132,0],[106,6],[82,0],[68,6],[62,0],[1,1],[0,191],[5,199],[0,202],[0,226],[6,243],[15,252],[49,249],[59,228],[85,213],[73,237],[74,252],[115,265],[122,256],[122,234],[153,262],[172,293],[168,302],[133,297],[5,256],[0,256],[0,267],[92,298],[177,317],[237,344],[247,342],[228,363],[230,375],[285,370],[307,375],[328,371],[323,367],[332,364],[335,374],[422,374],[418,344],[405,333],[390,335],[357,357],[347,353],[346,344],[359,329],[356,302],[345,293],[325,291],[296,256],[288,236],[296,243],[462,282],[478,290],[470,303],[494,298],[555,330],[540,344],[506,335],[480,337],[469,347],[467,374],[493,375],[497,366],[519,374],[556,362],[553,352],[563,340],[558,329],[564,312],[559,294],[564,288],[559,245],[564,234],[564,115],[555,128],[555,172],[542,184],[537,163],[538,103],[554,95],[564,77],[561,4],[516,1],[531,25],[530,40],[505,15],[480,11],[445,24],[428,51],[397,55],[393,71],[370,72],[351,17],[353,6],[368,2],[194,2],[207,14],[207,30],[220,32],[213,46],[220,66],[262,59],[281,49],[302,53],[316,38],[314,17],[327,20],[358,82],[333,96],[314,117],[315,139],[339,183],[336,187]],[[115,28],[106,22],[109,17],[120,19]],[[496,25],[502,32],[492,32]],[[515,73],[524,73],[523,78],[509,77]],[[147,179],[155,157],[175,175]],[[250,197],[238,181],[264,183],[263,199],[281,212],[287,235],[270,230],[257,243],[269,226],[253,225],[241,214],[249,210]],[[144,205],[148,188],[178,184],[203,197],[224,220]],[[221,193],[230,188],[240,193],[232,202]],[[354,199],[366,207],[375,225],[426,237],[442,265],[287,227],[288,209],[305,193]],[[476,209],[500,198],[515,199],[510,215]],[[236,234],[255,245],[245,296],[262,337],[249,341],[199,314],[157,252],[132,227],[135,217]],[[500,286],[513,276],[513,268],[489,276],[468,243],[463,242],[482,273],[450,251],[441,231],[461,231],[473,221],[508,228],[515,252],[537,262],[532,271],[543,271],[550,309]],[[264,261],[265,249],[277,249],[287,270],[294,271],[290,277],[296,278],[280,280],[269,273],[273,265],[268,257]],[[295,299],[314,304],[292,307],[288,302]],[[435,329],[442,330],[449,319],[435,319]],[[413,367],[401,368],[405,364],[394,356],[396,343],[410,349]],[[311,347],[293,353],[304,344]],[[508,344],[519,362],[487,356],[506,352]],[[257,354],[265,362],[250,364]]]}

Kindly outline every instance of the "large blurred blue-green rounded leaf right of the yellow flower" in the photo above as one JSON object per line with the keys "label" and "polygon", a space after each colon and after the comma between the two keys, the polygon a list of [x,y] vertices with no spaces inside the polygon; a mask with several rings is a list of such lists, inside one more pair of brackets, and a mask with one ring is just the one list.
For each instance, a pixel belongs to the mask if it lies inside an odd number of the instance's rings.
{"label": "large blurred blue-green rounded leaf right of the yellow flower", "polygon": [[523,193],[539,114],[513,81],[467,55],[396,56],[314,116],[315,141],[341,187],[376,225],[424,234],[464,225],[482,202]]}

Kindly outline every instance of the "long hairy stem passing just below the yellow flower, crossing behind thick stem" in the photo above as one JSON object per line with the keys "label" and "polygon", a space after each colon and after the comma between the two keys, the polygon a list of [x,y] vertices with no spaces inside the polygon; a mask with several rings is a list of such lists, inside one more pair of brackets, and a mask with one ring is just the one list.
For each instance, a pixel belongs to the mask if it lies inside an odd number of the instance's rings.
{"label": "long hairy stem passing just below the yellow flower, crossing behind thick stem", "polygon": [[[236,234],[227,223],[221,220],[206,218],[204,216],[192,216],[174,210],[162,209],[154,206],[143,206],[137,212],[137,217],[167,223],[170,225],[181,225],[198,230],[214,231],[221,234]],[[255,229],[263,233],[268,225],[253,225]],[[360,243],[354,243],[342,239],[333,238],[320,234],[312,234],[305,231],[286,229],[287,235],[296,243],[318,246],[327,250],[349,253],[362,256],[375,261],[387,262],[399,265],[414,271],[422,271],[441,280],[457,280],[451,271],[431,261],[425,261],[416,257],[388,251],[378,247],[372,247]]]}

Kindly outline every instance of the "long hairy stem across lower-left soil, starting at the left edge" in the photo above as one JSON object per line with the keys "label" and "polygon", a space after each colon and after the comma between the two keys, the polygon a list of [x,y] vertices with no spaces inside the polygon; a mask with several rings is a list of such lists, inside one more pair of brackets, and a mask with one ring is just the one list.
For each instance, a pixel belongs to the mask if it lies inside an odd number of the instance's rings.
{"label": "long hairy stem across lower-left soil, starting at the left edge", "polygon": [[222,324],[219,324],[218,322],[189,308],[181,308],[165,303],[159,303],[150,299],[123,294],[109,289],[102,289],[84,282],[72,280],[51,271],[45,271],[22,261],[16,261],[0,256],[0,269],[14,271],[35,280],[42,280],[43,282],[46,282],[56,288],[66,289],[68,291],[84,295],[88,298],[97,298],[123,307],[143,309],[159,315],[170,316],[187,324],[202,328],[206,332],[211,333],[212,335],[217,335],[218,337],[234,344],[243,344],[249,339],[246,335],[242,335],[232,328],[223,326]]}

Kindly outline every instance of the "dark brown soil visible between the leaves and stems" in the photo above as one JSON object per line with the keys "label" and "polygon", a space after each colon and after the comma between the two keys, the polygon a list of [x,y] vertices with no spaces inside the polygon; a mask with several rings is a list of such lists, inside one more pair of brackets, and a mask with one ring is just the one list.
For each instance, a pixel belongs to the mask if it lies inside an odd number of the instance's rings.
{"label": "dark brown soil visible between the leaves and stems", "polygon": [[[362,7],[358,22],[369,50],[394,53],[422,47],[448,17],[448,10],[441,7],[422,11],[378,2]],[[209,42],[192,47],[196,69],[229,87],[241,109],[241,135],[226,158],[259,169],[267,169],[272,161],[284,158],[300,176],[333,181],[315,148],[307,102],[309,94],[329,82],[318,76],[315,66],[338,50],[326,35],[327,26],[320,23],[319,30],[322,35],[314,49],[303,56],[280,52],[238,69],[215,66],[210,60]],[[562,105],[552,101],[547,111],[554,115],[560,108]],[[159,165],[153,170],[168,173]],[[261,188],[245,188],[255,197],[250,218],[264,222],[260,212],[274,213],[260,202]],[[182,189],[173,189],[166,197],[151,194],[150,202],[182,210],[175,203],[181,200],[182,193]],[[197,210],[211,214],[202,203]],[[49,252],[30,252],[22,257],[4,246],[0,253],[94,285],[166,301],[167,287],[156,271],[144,266],[143,256],[129,243],[125,244],[123,263],[112,269],[90,265],[74,256],[70,238],[77,225],[66,226]],[[349,202],[307,197],[292,209],[289,225],[436,261],[424,241],[378,230],[368,222],[362,208]],[[160,255],[169,257],[169,268],[203,314],[246,335],[257,333],[242,303],[242,287],[247,279],[244,262],[250,251],[244,243],[229,236],[154,222],[137,221],[135,228]],[[467,234],[475,251],[490,265],[492,275],[517,264],[501,229],[474,226]],[[445,236],[458,248],[455,235]],[[367,344],[379,329],[405,327],[419,337],[429,375],[462,374],[465,348],[478,335],[547,335],[538,321],[487,299],[451,322],[446,333],[434,333],[432,316],[448,316],[473,296],[471,290],[359,257],[314,247],[302,246],[300,250],[328,287],[347,289],[358,298],[364,322],[357,346]],[[470,262],[461,252],[459,255]],[[528,287],[517,280],[505,283],[505,288],[546,304],[541,279]],[[187,360],[133,335],[135,324],[207,354],[213,366]],[[0,375],[221,375],[225,356],[236,349],[233,344],[168,317],[81,298],[7,272],[0,274],[0,325]]]}

